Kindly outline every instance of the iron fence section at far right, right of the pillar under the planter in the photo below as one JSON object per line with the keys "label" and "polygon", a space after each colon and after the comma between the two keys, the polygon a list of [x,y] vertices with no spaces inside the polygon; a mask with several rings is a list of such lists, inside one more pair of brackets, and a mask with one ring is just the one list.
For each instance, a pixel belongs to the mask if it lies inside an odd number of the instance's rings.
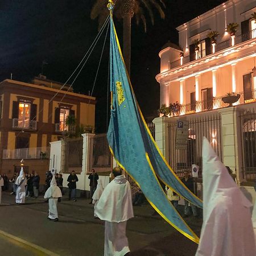
{"label": "iron fence section at far right, right of the pillar under the planter", "polygon": [[242,145],[242,175],[246,181],[256,179],[256,113],[251,110],[240,115]]}

